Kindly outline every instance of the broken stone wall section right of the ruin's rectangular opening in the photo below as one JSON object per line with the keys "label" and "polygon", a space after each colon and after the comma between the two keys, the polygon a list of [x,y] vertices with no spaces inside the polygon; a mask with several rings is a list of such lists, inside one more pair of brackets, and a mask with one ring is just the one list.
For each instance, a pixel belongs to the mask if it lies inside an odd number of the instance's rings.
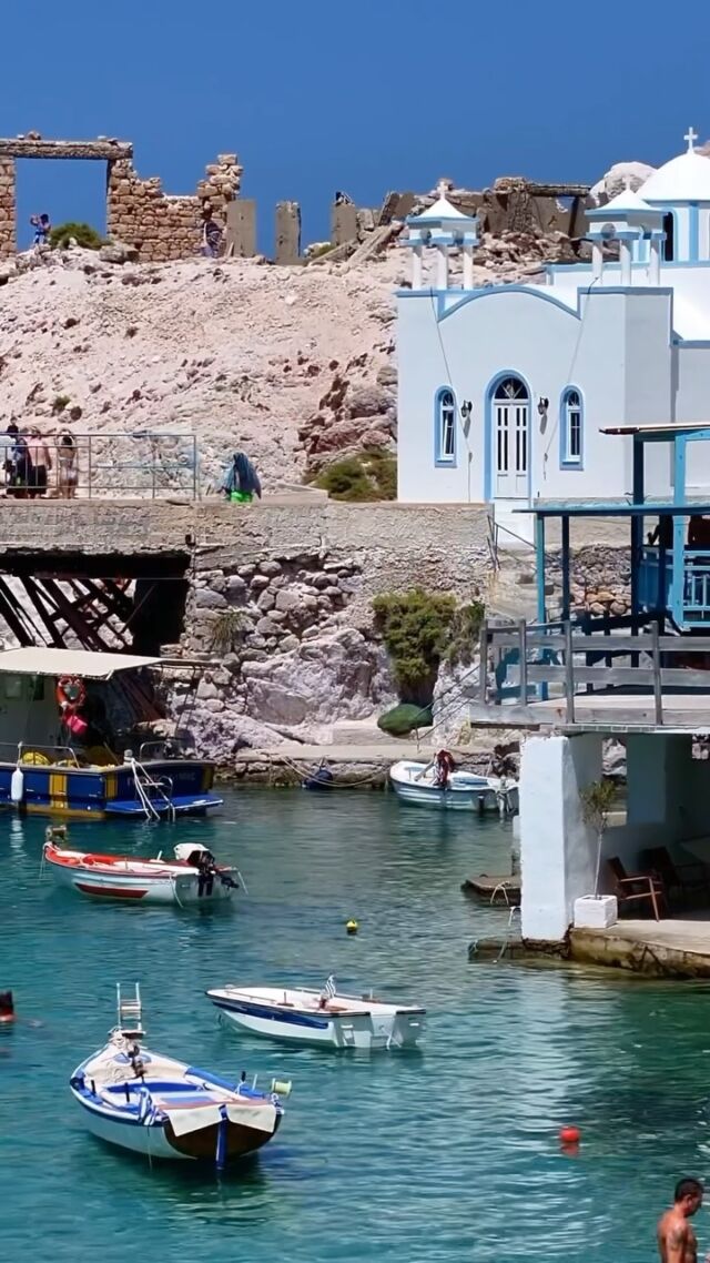
{"label": "broken stone wall section right of the ruin's rectangular opening", "polygon": [[168,197],[157,176],[141,179],[130,159],[119,159],[109,168],[109,236],[134,246],[144,263],[190,258],[201,249],[205,218],[225,231],[241,172],[236,154],[221,154],[195,196]]}

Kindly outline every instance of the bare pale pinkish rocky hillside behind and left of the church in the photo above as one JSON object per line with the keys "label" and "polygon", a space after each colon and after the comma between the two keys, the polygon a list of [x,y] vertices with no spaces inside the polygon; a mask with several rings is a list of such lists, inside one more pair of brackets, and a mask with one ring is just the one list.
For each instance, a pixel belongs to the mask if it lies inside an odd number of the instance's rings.
{"label": "bare pale pinkish rocky hillside behind and left of the church", "polygon": [[[481,242],[476,279],[518,280],[560,244]],[[0,427],[195,433],[206,481],[245,450],[264,488],[342,451],[394,443],[395,245],[360,265],[117,263],[121,253],[20,255],[0,272]],[[456,268],[454,268],[454,278]]]}

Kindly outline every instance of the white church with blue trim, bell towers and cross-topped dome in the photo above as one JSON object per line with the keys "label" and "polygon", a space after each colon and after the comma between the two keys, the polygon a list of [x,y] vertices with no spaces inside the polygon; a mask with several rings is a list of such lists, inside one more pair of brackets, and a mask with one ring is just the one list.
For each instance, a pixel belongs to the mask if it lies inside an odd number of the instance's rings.
{"label": "white church with blue trim, bell towers and cross-topped dome", "polygon": [[[622,498],[630,440],[603,428],[710,422],[710,159],[696,139],[691,128],[637,192],[587,211],[591,263],[548,265],[541,284],[474,285],[478,221],[443,186],[407,220],[399,500],[489,503],[504,518],[538,499]],[[651,494],[672,493],[665,460]],[[694,460],[687,490],[710,489]]]}

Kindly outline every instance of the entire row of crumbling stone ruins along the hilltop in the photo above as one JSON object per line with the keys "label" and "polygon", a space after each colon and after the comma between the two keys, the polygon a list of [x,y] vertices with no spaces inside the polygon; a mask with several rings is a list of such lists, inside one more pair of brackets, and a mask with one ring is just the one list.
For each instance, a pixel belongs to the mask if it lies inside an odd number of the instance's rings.
{"label": "entire row of crumbling stone ruins along the hilltop", "polygon": [[[160,179],[141,179],[133,165],[133,144],[125,140],[44,140],[29,131],[13,140],[0,140],[0,261],[16,251],[16,172],[19,158],[67,158],[105,162],[106,222],[109,236],[134,251],[141,263],[164,263],[196,255],[205,226],[220,230],[227,255],[256,254],[256,206],[241,198],[243,168],[236,154],[221,154],[206,168],[193,195],[168,196]],[[539,184],[523,177],[505,176],[493,188],[472,192],[451,187],[454,206],[478,215],[481,234],[489,237],[520,237],[541,244],[560,237],[560,258],[574,258],[585,234],[584,212],[587,184]],[[561,202],[563,198],[563,202]],[[433,196],[389,192],[382,206],[356,206],[337,193],[331,207],[330,242],[318,242],[302,254],[301,208],[297,202],[279,202],[275,213],[275,263],[339,261],[364,263],[392,242],[402,220],[423,210]],[[514,242],[513,242],[514,244]],[[481,242],[484,246],[485,242]]]}

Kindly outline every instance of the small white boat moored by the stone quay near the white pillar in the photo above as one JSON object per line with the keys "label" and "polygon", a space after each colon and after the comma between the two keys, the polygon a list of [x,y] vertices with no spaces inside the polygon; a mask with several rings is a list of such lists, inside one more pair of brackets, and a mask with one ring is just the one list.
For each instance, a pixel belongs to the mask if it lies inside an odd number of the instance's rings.
{"label": "small white boat moored by the stone quay near the white pillar", "polygon": [[505,777],[479,777],[474,772],[447,772],[442,777],[436,759],[412,763],[402,759],[389,769],[398,798],[417,807],[443,811],[496,811],[512,816],[518,810],[518,783]]}

